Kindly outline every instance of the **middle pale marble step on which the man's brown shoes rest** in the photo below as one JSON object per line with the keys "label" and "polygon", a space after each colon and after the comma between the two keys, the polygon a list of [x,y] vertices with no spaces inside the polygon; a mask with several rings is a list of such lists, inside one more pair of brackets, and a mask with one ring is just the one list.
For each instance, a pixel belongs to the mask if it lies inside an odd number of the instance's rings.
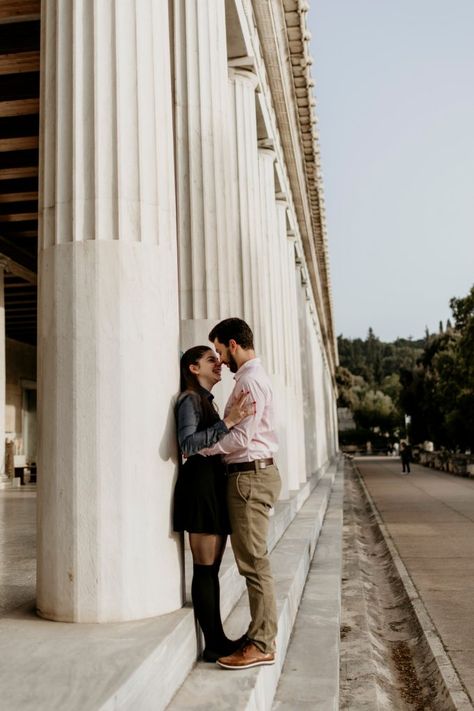
{"label": "middle pale marble step on which the man's brown shoes rest", "polygon": [[[169,711],[271,709],[335,473],[335,469],[330,469],[322,477],[271,553],[278,609],[276,663],[243,671],[227,671],[217,665],[198,662],[167,707]],[[226,621],[228,636],[240,636],[246,630],[248,621],[245,592]]]}

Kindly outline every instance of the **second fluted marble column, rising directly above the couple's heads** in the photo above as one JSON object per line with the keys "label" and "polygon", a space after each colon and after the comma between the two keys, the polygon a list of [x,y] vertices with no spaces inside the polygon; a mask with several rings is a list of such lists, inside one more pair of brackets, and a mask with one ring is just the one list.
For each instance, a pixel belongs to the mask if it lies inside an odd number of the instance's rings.
{"label": "second fluted marble column, rising directly above the couple's heads", "polygon": [[235,313],[225,3],[173,0],[181,346]]}

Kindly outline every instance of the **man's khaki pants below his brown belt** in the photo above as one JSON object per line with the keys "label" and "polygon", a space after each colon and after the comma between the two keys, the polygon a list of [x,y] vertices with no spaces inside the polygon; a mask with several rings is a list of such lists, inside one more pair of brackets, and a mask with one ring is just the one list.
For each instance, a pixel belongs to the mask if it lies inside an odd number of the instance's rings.
{"label": "man's khaki pants below his brown belt", "polygon": [[239,573],[247,582],[251,622],[248,637],[265,654],[275,649],[277,612],[268,560],[268,514],[278,499],[280,474],[272,465],[229,476],[227,499],[231,542]]}

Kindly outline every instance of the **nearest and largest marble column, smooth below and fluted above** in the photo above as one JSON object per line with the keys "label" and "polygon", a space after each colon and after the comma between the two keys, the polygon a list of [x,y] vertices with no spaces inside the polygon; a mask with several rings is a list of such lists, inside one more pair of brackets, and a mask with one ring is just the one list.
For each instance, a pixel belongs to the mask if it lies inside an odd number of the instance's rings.
{"label": "nearest and largest marble column, smooth below and fluted above", "polygon": [[182,603],[168,3],[43,0],[41,29],[38,608],[146,618]]}

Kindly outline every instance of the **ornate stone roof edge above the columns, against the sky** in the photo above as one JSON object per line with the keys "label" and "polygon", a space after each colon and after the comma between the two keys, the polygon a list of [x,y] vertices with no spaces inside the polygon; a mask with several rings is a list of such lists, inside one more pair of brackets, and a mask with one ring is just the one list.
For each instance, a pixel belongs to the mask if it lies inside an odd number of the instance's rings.
{"label": "ornate stone roof edge above the columns, against the sky", "polygon": [[[322,336],[334,373],[338,355],[319,134],[316,129],[318,120],[313,96],[314,81],[311,76],[311,33],[306,26],[309,3],[306,0],[254,0],[252,5],[272,89],[298,223],[305,245]],[[288,57],[288,61],[282,62],[281,57]],[[288,95],[289,91],[291,96]]]}

